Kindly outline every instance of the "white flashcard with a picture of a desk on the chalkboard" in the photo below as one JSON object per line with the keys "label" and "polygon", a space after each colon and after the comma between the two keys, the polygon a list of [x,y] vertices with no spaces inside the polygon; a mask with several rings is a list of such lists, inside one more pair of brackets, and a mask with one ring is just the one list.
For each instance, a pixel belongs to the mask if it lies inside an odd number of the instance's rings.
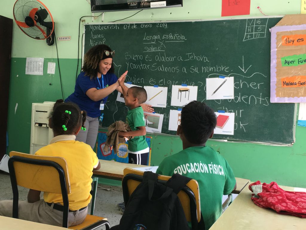
{"label": "white flashcard with a picture of a desk on the chalkboard", "polygon": [[184,106],[191,101],[196,101],[198,86],[172,86],[171,105]]}

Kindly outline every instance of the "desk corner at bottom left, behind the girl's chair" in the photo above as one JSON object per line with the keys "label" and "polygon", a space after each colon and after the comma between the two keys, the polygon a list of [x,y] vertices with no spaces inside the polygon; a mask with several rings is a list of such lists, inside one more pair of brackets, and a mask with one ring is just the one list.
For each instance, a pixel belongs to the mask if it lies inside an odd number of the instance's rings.
{"label": "desk corner at bottom left, behind the girl's chair", "polygon": [[27,220],[20,220],[11,217],[0,216],[1,230],[33,230],[33,229],[43,229],[43,230],[67,230],[67,228],[57,227],[49,224],[40,224]]}

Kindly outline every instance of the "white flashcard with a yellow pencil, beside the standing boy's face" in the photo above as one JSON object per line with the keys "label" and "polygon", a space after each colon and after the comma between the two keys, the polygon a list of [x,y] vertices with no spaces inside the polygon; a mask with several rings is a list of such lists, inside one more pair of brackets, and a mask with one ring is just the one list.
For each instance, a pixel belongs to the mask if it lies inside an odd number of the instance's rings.
{"label": "white flashcard with a yellow pencil, beside the standing boy's face", "polygon": [[159,86],[144,86],[147,91],[147,101],[146,104],[152,105],[153,107],[166,108],[167,104],[167,87]]}

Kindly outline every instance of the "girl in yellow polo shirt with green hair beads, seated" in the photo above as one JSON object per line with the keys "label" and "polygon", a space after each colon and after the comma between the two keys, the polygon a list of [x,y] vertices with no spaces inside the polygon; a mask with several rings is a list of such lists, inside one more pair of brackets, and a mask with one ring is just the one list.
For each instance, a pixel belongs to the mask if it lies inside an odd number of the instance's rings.
{"label": "girl in yellow polo shirt with green hair beads, seated", "polygon": [[[99,169],[97,155],[88,144],[76,141],[76,135],[83,129],[86,112],[73,103],[58,100],[49,119],[54,138],[50,144],[35,154],[63,157],[67,162],[71,193],[69,199],[68,226],[84,221],[91,200],[91,176],[93,169]],[[62,226],[62,194],[47,193],[40,199],[41,191],[29,190],[28,202],[19,201],[19,219]],[[0,215],[12,217],[13,201],[0,201]]]}

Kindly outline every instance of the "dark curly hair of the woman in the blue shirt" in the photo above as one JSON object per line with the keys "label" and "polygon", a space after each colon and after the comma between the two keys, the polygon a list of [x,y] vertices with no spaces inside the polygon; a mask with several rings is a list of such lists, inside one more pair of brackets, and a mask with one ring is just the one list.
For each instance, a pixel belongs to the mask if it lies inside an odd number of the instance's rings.
{"label": "dark curly hair of the woman in the blue shirt", "polygon": [[[84,55],[84,65],[82,70],[85,72],[85,75],[90,77],[90,79],[97,77],[99,62],[101,59],[113,58],[111,55],[106,56],[104,50],[112,51],[109,46],[102,44],[90,48]],[[114,71],[114,65],[112,65],[108,72],[114,73]]]}

